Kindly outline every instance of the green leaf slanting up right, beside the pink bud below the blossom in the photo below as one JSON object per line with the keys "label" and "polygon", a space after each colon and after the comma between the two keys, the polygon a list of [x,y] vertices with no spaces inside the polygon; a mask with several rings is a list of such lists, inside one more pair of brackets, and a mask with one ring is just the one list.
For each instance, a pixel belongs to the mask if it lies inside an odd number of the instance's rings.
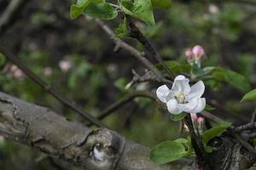
{"label": "green leaf slanting up right, beside the pink bud below the blossom", "polygon": [[220,135],[225,131],[226,128],[232,125],[231,122],[219,122],[217,127],[212,127],[202,134],[203,144],[207,144],[211,139]]}

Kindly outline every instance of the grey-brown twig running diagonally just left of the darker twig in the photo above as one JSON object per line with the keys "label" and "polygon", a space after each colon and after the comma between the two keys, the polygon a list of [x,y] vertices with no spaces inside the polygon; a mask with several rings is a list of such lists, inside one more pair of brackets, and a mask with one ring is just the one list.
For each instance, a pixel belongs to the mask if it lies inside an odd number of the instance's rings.
{"label": "grey-brown twig running diagonally just left of the darker twig", "polygon": [[166,78],[161,74],[161,72],[155,68],[155,66],[144,57],[143,53],[138,51],[136,48],[131,47],[128,43],[122,41],[121,39],[115,37],[115,33],[112,29],[107,26],[102,20],[96,20],[96,24],[101,26],[103,31],[105,31],[109,37],[112,37],[113,42],[120,48],[124,48],[126,51],[130,52],[136,59],[138,59],[145,67],[147,67],[150,71],[154,72],[155,76],[160,79],[161,82],[169,82],[170,80],[166,80]]}

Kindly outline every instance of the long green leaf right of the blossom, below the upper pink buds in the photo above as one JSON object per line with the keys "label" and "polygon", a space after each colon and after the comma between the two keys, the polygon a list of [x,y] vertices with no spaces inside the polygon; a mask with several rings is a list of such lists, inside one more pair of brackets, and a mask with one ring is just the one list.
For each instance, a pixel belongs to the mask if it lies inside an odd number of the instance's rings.
{"label": "long green leaf right of the blossom, below the upper pink buds", "polygon": [[241,76],[235,71],[226,70],[224,68],[215,68],[211,72],[212,77],[218,81],[229,82],[233,87],[247,91],[251,89],[251,85],[247,82],[246,77]]}

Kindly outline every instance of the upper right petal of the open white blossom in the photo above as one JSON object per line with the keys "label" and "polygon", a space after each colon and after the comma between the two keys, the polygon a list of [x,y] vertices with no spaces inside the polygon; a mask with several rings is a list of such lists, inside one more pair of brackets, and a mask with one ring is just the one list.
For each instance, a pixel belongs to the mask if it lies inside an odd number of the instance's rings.
{"label": "upper right petal of the open white blossom", "polygon": [[196,82],[193,86],[190,88],[190,92],[187,95],[186,99],[196,99],[196,98],[201,98],[201,95],[204,94],[205,92],[205,84],[204,82]]}

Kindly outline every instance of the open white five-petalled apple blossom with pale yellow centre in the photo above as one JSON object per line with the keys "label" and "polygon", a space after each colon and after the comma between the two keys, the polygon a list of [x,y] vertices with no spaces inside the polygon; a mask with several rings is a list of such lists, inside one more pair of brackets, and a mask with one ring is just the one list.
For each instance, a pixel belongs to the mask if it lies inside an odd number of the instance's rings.
{"label": "open white five-petalled apple blossom with pale yellow centre", "polygon": [[156,95],[161,102],[166,103],[171,114],[179,114],[183,111],[198,113],[203,111],[206,106],[206,99],[201,98],[204,91],[203,82],[196,82],[190,88],[189,79],[179,75],[175,78],[171,89],[166,85],[160,86],[156,90]]}

